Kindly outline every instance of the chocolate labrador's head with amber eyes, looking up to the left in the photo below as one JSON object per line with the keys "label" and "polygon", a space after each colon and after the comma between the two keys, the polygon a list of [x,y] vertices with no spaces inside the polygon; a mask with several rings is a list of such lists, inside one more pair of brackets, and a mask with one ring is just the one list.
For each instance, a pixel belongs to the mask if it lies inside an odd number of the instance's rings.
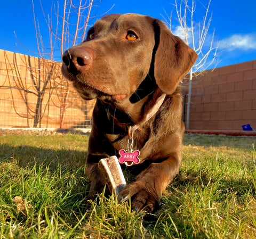
{"label": "chocolate labrador's head with amber eyes, looking up to the left", "polygon": [[63,54],[62,73],[86,100],[133,103],[151,87],[172,94],[196,59],[162,21],[110,14],[95,22],[82,44]]}

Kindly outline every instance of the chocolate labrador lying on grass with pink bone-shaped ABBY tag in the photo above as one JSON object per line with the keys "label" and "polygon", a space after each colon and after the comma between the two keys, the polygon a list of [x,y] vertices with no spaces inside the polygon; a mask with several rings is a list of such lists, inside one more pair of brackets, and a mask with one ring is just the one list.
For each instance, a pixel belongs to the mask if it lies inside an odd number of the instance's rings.
{"label": "chocolate labrador lying on grass with pink bone-shaped ABBY tag", "polygon": [[[63,54],[63,75],[85,100],[97,98],[86,159],[91,194],[106,184],[99,160],[123,150],[125,165],[141,172],[119,199],[130,196],[135,211],[154,210],[179,174],[185,127],[178,85],[196,59],[162,21],[132,13],[106,15]],[[135,150],[139,161],[129,156]]]}

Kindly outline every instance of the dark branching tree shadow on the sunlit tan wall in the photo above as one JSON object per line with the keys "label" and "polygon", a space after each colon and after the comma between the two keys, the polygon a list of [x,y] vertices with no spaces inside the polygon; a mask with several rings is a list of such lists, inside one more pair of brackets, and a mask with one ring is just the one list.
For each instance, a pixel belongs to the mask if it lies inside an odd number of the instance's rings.
{"label": "dark branching tree shadow on the sunlit tan wall", "polygon": [[[12,59],[9,59],[6,52],[4,60],[8,83],[4,83],[0,88],[10,89],[14,111],[19,117],[27,119],[27,127],[30,127],[30,119],[34,119],[33,127],[41,127],[42,118],[49,113],[47,109],[53,92],[52,85],[55,85],[51,79],[58,78],[58,75],[55,75],[56,64],[17,53],[13,53]],[[22,100],[18,105],[15,94]],[[20,111],[24,108],[26,111]]]}

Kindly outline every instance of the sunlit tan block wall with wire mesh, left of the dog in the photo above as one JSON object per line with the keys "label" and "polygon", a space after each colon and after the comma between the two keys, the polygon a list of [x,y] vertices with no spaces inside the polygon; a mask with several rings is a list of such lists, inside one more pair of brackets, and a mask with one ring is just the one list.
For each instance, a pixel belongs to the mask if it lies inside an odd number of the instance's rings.
{"label": "sunlit tan block wall with wire mesh, left of the dog", "polygon": [[63,78],[61,63],[0,50],[0,127],[88,128],[94,104]]}

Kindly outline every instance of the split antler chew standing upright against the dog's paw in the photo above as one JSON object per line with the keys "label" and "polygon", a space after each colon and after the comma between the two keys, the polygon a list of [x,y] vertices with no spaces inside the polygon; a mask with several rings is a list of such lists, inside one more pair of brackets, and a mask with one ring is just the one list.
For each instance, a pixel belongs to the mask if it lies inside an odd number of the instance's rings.
{"label": "split antler chew standing upright against the dog's paw", "polygon": [[109,158],[101,159],[99,169],[107,180],[109,191],[118,195],[126,186],[126,182],[117,157],[110,156]]}

